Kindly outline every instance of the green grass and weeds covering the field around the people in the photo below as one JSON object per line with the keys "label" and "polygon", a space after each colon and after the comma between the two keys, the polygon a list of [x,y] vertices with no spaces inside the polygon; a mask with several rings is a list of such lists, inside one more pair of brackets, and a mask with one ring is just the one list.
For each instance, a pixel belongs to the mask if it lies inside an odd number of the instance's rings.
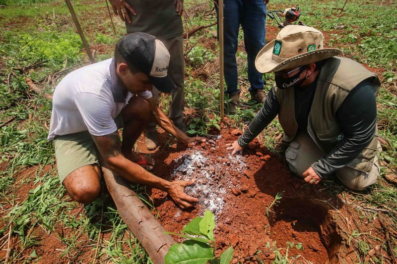
{"label": "green grass and weeds covering the field around the people", "polygon": [[[397,9],[383,5],[381,1],[370,1],[363,7],[360,1],[351,0],[347,2],[346,10],[339,15],[340,10],[332,8],[341,7],[343,2],[295,1],[301,8],[301,19],[306,24],[326,31],[328,46],[341,48],[347,56],[379,69],[383,83],[377,98],[378,128],[380,135],[390,141],[391,148],[381,154],[380,180],[368,190],[351,193],[332,182],[327,183],[327,189],[335,195],[343,193],[351,203],[367,209],[355,210],[371,224],[376,222],[374,218],[380,217],[377,209],[382,209],[382,219],[392,226],[397,224],[396,186],[383,176],[397,168],[397,99],[394,88],[397,83]],[[71,202],[65,194],[64,187],[57,179],[56,168],[52,168],[55,164],[53,147],[46,140],[51,102],[29,92],[24,76],[17,69],[43,61],[41,67],[24,72],[24,75],[34,81],[44,80],[40,82],[42,88],[52,91],[56,84],[45,81],[49,74],[87,61],[66,5],[63,1],[49,0],[0,0],[0,5],[6,5],[0,9],[0,123],[15,118],[0,128],[0,245],[7,238],[10,228],[12,237],[15,237],[12,241],[16,243],[12,246],[9,261],[23,262],[24,256],[36,258],[34,256],[37,253],[37,258],[42,258],[40,246],[46,243],[43,234],[50,234],[55,237],[54,241],[58,241],[62,257],[71,262],[90,262],[96,255],[101,262],[151,263],[122,221],[109,194],[103,193],[85,207]],[[204,0],[185,1],[188,11],[184,16],[185,28],[191,29],[214,21],[214,11],[210,11],[211,6],[206,5],[208,2]],[[88,42],[97,50],[97,59],[111,57],[117,39],[124,34],[123,22],[114,17],[115,36],[103,1],[75,1],[73,6]],[[272,0],[268,5],[268,9],[286,7],[282,0]],[[267,23],[269,27],[272,21]],[[219,120],[218,44],[214,35],[216,26],[198,32],[186,44],[186,104],[194,111],[188,119],[191,134],[206,135],[210,129],[216,129]],[[243,41],[241,33],[239,41]],[[246,127],[260,105],[253,104],[247,92],[246,54],[239,51],[237,61],[242,100],[251,104],[252,108],[239,109],[229,118],[236,125]],[[265,90],[268,91],[273,83],[273,75],[266,74],[264,78]],[[160,106],[165,111],[168,111],[169,100],[170,97],[160,98]],[[270,151],[281,156],[281,135],[281,127],[274,120],[260,138]],[[26,167],[31,172],[25,175]],[[21,199],[18,193],[23,186],[31,186],[26,199]],[[150,205],[144,188],[136,188],[140,197]],[[372,245],[361,235],[363,232],[353,231],[347,234],[350,244],[357,246],[357,260],[363,259]],[[291,260],[291,256],[287,254],[277,255],[279,263],[285,263],[288,259]],[[378,260],[381,261],[380,258]]]}

